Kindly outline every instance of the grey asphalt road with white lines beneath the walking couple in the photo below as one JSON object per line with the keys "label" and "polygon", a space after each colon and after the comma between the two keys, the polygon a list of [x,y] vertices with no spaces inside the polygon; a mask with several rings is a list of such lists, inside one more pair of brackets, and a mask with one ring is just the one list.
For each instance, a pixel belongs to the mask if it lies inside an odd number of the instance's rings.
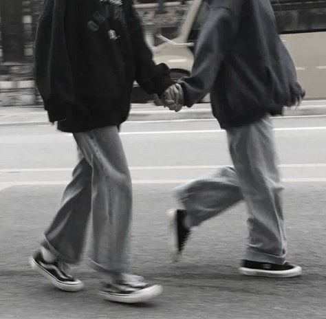
{"label": "grey asphalt road with white lines beneath the walking couple", "polygon": [[[134,181],[134,272],[164,285],[149,305],[107,303],[85,261],[74,268],[83,292],[47,285],[28,256],[54,216],[76,160],[72,136],[47,125],[0,126],[0,318],[326,318],[326,117],[274,119],[287,221],[288,259],[301,278],[247,278],[241,203],[204,223],[184,259],[170,262],[164,211],[182,181],[230,164],[214,120],[129,122],[122,140]],[[87,252],[88,248],[86,248]]]}

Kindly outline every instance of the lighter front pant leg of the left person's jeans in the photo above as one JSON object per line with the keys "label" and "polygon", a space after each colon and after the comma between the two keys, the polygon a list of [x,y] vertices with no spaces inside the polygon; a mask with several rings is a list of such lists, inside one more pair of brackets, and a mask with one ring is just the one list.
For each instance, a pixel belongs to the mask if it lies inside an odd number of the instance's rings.
{"label": "lighter front pant leg of the left person's jeans", "polygon": [[118,128],[107,126],[74,136],[93,170],[93,265],[114,274],[129,272],[132,186]]}

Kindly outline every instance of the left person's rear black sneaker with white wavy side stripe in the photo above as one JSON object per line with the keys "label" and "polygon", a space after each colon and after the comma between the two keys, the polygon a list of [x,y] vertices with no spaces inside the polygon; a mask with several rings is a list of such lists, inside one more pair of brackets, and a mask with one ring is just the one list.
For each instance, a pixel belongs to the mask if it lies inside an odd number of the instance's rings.
{"label": "left person's rear black sneaker with white wavy side stripe", "polygon": [[65,273],[64,263],[60,261],[47,263],[43,259],[41,252],[36,252],[34,256],[30,257],[29,261],[33,270],[47,278],[58,289],[65,292],[79,292],[84,287],[82,281]]}

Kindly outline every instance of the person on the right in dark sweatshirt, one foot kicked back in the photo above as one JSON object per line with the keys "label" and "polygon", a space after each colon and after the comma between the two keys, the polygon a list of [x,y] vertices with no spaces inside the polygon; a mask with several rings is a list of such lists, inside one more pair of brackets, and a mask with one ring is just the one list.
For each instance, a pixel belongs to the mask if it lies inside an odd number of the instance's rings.
{"label": "person on the right in dark sweatshirt, one foot kicked back", "polygon": [[269,0],[211,0],[209,7],[191,75],[166,91],[165,103],[180,111],[180,104],[191,107],[210,93],[234,167],[176,188],[182,209],[168,212],[174,259],[193,227],[244,199],[249,238],[241,274],[299,276],[301,267],[285,261],[283,186],[270,115],[300,104],[305,92]]}

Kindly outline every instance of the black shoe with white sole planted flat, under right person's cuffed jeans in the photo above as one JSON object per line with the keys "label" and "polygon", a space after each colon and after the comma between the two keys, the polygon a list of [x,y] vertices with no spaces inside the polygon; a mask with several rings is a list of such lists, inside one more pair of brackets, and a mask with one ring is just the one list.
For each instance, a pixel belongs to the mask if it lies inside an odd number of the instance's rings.
{"label": "black shoe with white sole planted flat, under right person's cuffed jeans", "polygon": [[239,267],[240,274],[246,276],[263,276],[272,278],[291,278],[301,276],[302,268],[290,263],[276,265],[274,263],[259,263],[243,260]]}

